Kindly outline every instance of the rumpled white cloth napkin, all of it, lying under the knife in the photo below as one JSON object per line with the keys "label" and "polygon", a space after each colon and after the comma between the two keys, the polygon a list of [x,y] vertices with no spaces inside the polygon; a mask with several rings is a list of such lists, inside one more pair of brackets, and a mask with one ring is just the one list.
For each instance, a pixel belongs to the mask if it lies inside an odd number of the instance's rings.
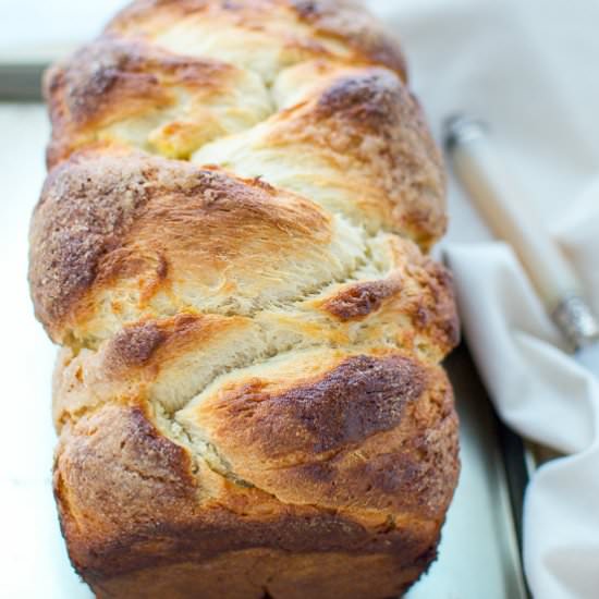
{"label": "rumpled white cloth napkin, all of it, lying under the knife", "polygon": [[[377,1],[403,39],[416,90],[439,131],[453,110],[490,121],[599,313],[597,3]],[[539,210],[540,209],[540,210]],[[599,597],[599,381],[562,340],[512,250],[450,186],[444,247],[466,338],[501,417],[566,454],[525,499],[524,562],[538,599]],[[464,243],[467,242],[467,243]]]}

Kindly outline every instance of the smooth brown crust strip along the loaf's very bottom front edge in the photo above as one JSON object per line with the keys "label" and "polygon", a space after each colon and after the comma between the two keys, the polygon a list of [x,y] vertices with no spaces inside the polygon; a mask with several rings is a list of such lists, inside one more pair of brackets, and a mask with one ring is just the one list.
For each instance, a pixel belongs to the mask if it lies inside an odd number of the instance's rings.
{"label": "smooth brown crust strip along the loaf's very bottom front edge", "polygon": [[[391,554],[356,555],[340,552],[298,553],[267,549],[230,552],[207,562],[186,562],[130,573],[95,586],[101,599],[330,599],[331,597],[395,598],[418,576],[421,555],[414,567],[398,575]],[[371,576],[365,576],[368,572]]]}

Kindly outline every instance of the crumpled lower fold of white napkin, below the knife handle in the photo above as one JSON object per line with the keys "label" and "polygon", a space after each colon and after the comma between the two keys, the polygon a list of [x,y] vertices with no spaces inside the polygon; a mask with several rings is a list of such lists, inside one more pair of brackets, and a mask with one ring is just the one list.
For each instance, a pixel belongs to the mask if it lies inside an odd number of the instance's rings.
{"label": "crumpled lower fold of white napkin, below the knife handle", "polygon": [[597,598],[599,383],[555,349],[555,330],[510,248],[451,245],[448,255],[466,338],[501,416],[569,454],[541,466],[526,492],[524,563],[533,594]]}

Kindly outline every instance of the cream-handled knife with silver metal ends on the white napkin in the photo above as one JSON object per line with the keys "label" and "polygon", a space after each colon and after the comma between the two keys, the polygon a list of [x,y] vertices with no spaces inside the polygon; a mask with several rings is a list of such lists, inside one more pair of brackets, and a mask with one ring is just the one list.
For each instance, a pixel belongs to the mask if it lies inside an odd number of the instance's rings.
{"label": "cream-handled knife with silver metal ends on the white napkin", "polygon": [[516,252],[576,359],[599,377],[599,322],[583,285],[525,201],[488,127],[478,119],[451,117],[444,124],[444,142],[457,180],[494,234]]}

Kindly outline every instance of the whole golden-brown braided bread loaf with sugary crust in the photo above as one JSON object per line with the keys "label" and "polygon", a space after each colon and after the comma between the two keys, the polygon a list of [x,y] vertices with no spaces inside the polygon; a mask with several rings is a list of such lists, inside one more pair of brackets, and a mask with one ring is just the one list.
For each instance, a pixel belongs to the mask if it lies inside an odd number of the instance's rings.
{"label": "whole golden-brown braided bread loaf with sugary crust", "polygon": [[457,477],[438,151],[343,0],[138,0],[52,68],[30,232],[98,597],[383,598]]}

